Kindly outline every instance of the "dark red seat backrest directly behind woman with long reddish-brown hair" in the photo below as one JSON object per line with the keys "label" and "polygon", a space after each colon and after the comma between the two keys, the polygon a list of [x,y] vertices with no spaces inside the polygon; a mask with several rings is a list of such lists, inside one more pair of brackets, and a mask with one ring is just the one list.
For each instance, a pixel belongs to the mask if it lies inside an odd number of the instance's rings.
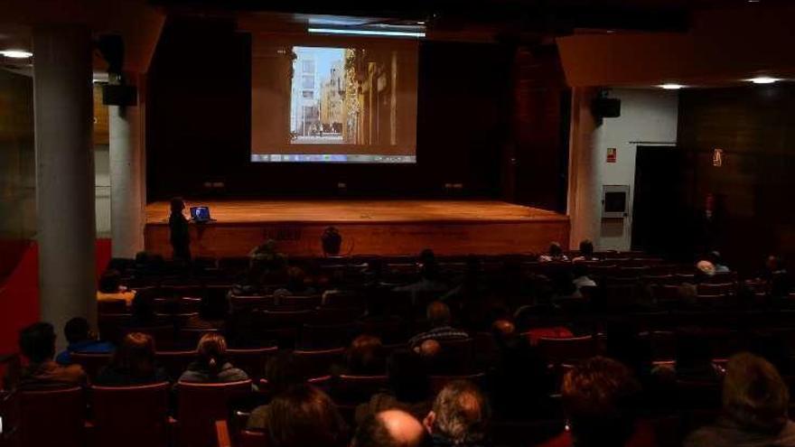
{"label": "dark red seat backrest directly behind woman with long reddish-brown hair", "polygon": [[97,445],[140,447],[168,444],[170,385],[92,386]]}

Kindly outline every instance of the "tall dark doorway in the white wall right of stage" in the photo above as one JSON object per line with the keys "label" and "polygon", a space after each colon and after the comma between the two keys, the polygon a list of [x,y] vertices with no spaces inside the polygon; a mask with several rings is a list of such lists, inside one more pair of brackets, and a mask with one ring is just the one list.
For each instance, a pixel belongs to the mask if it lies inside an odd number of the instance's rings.
{"label": "tall dark doorway in the white wall right of stage", "polygon": [[687,256],[685,156],[676,147],[638,146],[632,249],[670,259]]}

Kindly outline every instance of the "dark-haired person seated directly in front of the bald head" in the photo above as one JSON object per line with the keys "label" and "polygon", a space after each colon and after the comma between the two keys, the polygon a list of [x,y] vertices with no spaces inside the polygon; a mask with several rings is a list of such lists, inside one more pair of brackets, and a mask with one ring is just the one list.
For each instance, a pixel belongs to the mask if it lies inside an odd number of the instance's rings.
{"label": "dark-haired person seated directly in front of the bald head", "polygon": [[433,396],[423,359],[408,349],[397,349],[387,360],[387,376],[389,389],[371,396],[367,404],[359,405],[356,422],[360,423],[369,414],[396,408],[417,419],[425,417]]}

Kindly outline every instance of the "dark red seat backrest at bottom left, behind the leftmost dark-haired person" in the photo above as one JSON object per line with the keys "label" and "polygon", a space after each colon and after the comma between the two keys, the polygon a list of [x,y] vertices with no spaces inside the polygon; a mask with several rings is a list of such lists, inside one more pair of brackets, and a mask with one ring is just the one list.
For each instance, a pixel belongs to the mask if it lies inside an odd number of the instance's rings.
{"label": "dark red seat backrest at bottom left, behind the leftmost dark-haired person", "polygon": [[84,447],[86,401],[82,388],[22,391],[19,405],[20,445]]}

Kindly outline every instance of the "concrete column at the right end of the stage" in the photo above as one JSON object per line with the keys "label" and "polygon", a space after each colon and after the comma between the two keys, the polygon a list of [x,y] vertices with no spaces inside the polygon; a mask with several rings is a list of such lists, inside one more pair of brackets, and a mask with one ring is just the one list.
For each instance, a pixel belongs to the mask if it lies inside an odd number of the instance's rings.
{"label": "concrete column at the right end of the stage", "polygon": [[[569,247],[576,249],[583,239],[599,242],[601,191],[598,154],[594,147],[597,123],[591,113],[595,88],[572,90],[571,134],[569,138],[568,215],[571,219]],[[598,247],[597,247],[598,248]]]}

